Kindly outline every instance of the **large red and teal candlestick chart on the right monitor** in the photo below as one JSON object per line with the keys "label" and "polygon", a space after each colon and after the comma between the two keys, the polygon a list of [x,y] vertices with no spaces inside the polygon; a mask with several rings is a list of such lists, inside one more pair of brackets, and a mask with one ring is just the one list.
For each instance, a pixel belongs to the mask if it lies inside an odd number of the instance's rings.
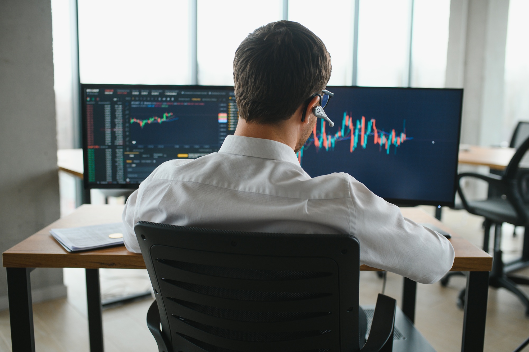
{"label": "large red and teal candlestick chart on the right monitor", "polygon": [[353,121],[351,115],[347,112],[343,113],[342,123],[338,124],[338,131],[335,132],[326,130],[324,120],[319,123],[319,130],[317,129],[318,123],[316,123],[311,137],[297,153],[299,163],[303,163],[303,151],[311,148],[312,145],[316,148],[317,153],[332,152],[337,144],[340,143],[346,145],[350,153],[359,148],[378,148],[380,152],[389,154],[393,148],[393,153],[396,154],[400,145],[413,139],[413,137],[406,135],[406,120],[403,120],[402,130],[400,131],[395,130],[395,128],[385,130],[377,127],[376,119],[367,119],[366,116],[362,116],[360,119]]}

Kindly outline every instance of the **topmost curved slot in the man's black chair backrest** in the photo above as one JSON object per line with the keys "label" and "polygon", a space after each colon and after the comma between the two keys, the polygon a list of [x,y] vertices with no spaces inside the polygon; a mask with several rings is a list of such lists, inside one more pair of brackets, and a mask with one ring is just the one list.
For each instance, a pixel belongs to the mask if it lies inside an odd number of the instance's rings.
{"label": "topmost curved slot in the man's black chair backrest", "polygon": [[174,268],[186,270],[187,272],[239,278],[244,280],[299,280],[329,276],[325,272],[297,272],[292,270],[256,270],[244,268],[229,268],[223,266],[187,263],[185,261],[157,259],[160,263],[170,265]]}

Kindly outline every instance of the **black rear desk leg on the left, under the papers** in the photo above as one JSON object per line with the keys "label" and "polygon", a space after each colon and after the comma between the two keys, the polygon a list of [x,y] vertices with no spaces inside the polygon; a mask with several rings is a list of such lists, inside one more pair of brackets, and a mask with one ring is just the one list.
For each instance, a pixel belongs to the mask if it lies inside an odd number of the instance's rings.
{"label": "black rear desk leg on the left, under the papers", "polygon": [[103,312],[99,291],[99,269],[85,270],[90,352],[103,352]]}

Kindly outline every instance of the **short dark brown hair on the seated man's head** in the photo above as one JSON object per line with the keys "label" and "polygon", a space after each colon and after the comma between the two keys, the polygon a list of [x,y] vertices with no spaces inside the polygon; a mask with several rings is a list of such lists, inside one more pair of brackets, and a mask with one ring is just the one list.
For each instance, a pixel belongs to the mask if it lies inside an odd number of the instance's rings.
{"label": "short dark brown hair on the seated man's head", "polygon": [[233,80],[239,116],[273,124],[287,120],[331,77],[331,56],[322,40],[292,21],[264,25],[235,51]]}

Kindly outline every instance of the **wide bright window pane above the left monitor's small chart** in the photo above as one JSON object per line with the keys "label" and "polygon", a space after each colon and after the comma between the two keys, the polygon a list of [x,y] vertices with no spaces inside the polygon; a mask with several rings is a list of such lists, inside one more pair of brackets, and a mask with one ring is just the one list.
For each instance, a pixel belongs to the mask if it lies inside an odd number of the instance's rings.
{"label": "wide bright window pane above the left monitor's small chart", "polygon": [[79,0],[81,83],[189,84],[187,0]]}

